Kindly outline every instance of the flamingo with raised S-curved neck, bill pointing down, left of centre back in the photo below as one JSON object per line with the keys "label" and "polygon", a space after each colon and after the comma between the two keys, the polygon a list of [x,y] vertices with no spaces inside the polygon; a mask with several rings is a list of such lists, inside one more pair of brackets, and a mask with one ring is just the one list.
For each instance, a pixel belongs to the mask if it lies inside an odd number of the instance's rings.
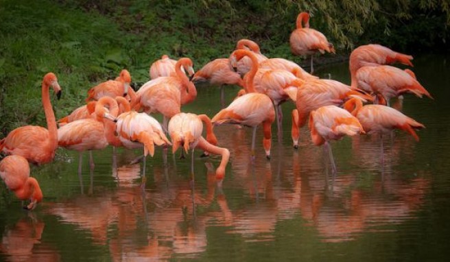
{"label": "flamingo with raised S-curved neck, bill pointing down, left of centre back", "polygon": [[184,67],[189,75],[193,75],[192,66],[191,59],[180,58],[175,67],[177,76],[156,78],[145,83],[137,91],[136,103],[132,108],[143,108],[148,113],[161,112],[164,116],[163,126],[167,128],[168,119],[180,112],[181,105],[192,102],[197,97],[196,86],[181,71],[181,67]]}

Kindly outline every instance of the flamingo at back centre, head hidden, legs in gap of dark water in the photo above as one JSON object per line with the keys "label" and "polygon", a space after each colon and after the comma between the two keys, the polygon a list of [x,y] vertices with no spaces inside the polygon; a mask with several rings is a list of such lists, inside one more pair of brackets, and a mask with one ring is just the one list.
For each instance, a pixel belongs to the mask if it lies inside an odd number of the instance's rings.
{"label": "flamingo at back centre, head hidden, legs in gap of dark water", "polygon": [[196,83],[202,81],[209,81],[211,85],[220,86],[220,102],[222,103],[222,107],[225,104],[225,84],[235,84],[241,87],[244,86],[241,75],[233,71],[233,68],[230,67],[228,62],[228,58],[215,59],[205,64],[202,69],[193,75],[192,82]]}

